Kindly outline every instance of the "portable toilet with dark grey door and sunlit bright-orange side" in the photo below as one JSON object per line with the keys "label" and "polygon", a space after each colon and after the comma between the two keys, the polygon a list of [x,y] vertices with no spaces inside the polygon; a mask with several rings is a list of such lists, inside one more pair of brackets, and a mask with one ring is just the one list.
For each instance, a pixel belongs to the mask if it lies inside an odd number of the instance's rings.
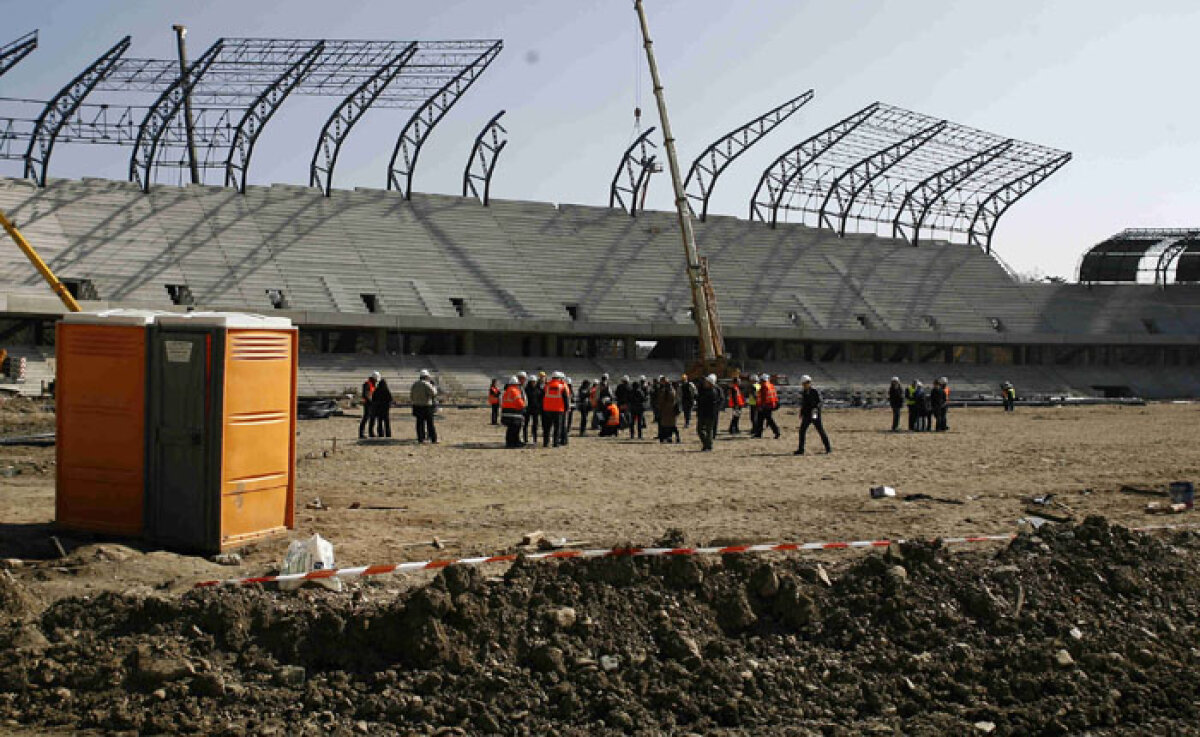
{"label": "portable toilet with dark grey door and sunlit bright-orange side", "polygon": [[149,348],[145,535],[217,552],[294,526],[296,329],[160,317]]}

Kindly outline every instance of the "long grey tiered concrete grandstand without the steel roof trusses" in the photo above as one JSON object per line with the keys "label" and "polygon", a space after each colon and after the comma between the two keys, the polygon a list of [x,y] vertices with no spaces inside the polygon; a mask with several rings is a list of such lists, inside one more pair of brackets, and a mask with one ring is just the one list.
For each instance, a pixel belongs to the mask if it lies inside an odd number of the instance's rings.
{"label": "long grey tiered concrete grandstand without the steel roof trusses", "polygon": [[[313,394],[432,367],[478,399],[515,367],[677,373],[695,352],[674,214],[100,179],[0,180],[0,208],[86,307],[287,314]],[[1021,284],[971,246],[733,217],[709,216],[697,238],[749,370],[845,390],[944,375],[959,396],[1004,379],[1025,394],[1200,395],[1200,287]],[[559,258],[535,275],[528,253]],[[53,373],[61,311],[0,251],[0,335],[28,359],[26,390]]]}

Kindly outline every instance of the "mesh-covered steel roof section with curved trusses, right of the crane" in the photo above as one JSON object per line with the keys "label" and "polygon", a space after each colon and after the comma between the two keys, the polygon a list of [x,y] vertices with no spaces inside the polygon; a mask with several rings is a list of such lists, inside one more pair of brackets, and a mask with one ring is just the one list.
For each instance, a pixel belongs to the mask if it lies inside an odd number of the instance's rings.
{"label": "mesh-covered steel roof section with curved trusses, right of the crane", "polygon": [[944,238],[991,252],[1000,217],[1070,154],[881,102],[798,143],[768,167],[750,217],[839,235]]}

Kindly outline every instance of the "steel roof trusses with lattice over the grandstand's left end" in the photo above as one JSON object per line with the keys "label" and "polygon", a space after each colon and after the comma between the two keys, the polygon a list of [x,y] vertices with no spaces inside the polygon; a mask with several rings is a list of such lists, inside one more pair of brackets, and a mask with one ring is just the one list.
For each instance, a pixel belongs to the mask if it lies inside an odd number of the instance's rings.
{"label": "steel roof trusses with lattice over the grandstand's left end", "polygon": [[[6,108],[38,109],[36,116],[0,116],[0,158],[24,161],[25,176],[44,185],[56,143],[132,146],[130,179],[146,188],[164,170],[190,166],[190,98],[202,180],[245,190],[254,143],[283,102],[292,95],[336,97],[340,104],[317,138],[310,184],[329,193],[341,145],[368,109],[403,108],[413,114],[397,137],[386,181],[398,181],[408,194],[425,139],[502,48],[491,40],[220,38],[182,73],[176,60],[127,56],[126,36],[44,103],[0,98]],[[130,95],[150,102],[128,104]]]}

